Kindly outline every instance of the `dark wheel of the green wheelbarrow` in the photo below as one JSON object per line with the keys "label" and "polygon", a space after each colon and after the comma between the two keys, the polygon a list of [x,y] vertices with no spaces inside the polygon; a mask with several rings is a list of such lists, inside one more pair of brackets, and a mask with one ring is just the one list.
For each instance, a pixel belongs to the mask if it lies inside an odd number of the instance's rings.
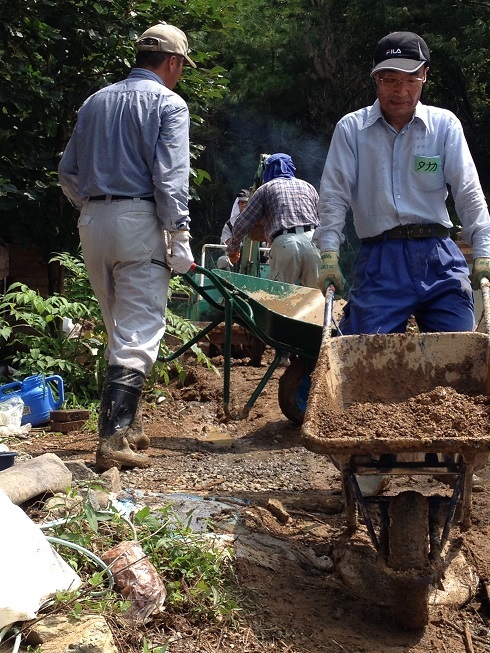
{"label": "dark wheel of the green wheelbarrow", "polygon": [[293,424],[303,424],[310,388],[311,365],[299,356],[290,356],[279,379],[279,407]]}

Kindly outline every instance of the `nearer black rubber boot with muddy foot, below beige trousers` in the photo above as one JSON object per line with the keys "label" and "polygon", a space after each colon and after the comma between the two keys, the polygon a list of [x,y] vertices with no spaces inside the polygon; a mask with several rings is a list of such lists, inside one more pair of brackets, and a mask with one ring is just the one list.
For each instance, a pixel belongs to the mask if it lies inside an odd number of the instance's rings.
{"label": "nearer black rubber boot with muddy foot, below beige trousers", "polygon": [[127,433],[133,424],[145,375],[121,365],[109,365],[99,410],[97,467],[147,467],[148,456],[131,449]]}

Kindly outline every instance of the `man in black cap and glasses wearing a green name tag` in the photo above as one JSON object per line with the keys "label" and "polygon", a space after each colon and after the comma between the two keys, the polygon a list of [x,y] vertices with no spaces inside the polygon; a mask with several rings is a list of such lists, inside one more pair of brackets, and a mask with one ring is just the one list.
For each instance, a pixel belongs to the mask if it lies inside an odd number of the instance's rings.
{"label": "man in black cap and glasses wearing a green name tag", "polygon": [[376,46],[377,100],[337,124],[320,184],[319,288],[343,288],[339,247],[352,209],[361,240],[342,334],[471,331],[466,261],[450,237],[448,186],[463,239],[473,246],[473,288],[490,278],[490,218],[458,118],[420,101],[429,72],[425,41],[393,32]]}

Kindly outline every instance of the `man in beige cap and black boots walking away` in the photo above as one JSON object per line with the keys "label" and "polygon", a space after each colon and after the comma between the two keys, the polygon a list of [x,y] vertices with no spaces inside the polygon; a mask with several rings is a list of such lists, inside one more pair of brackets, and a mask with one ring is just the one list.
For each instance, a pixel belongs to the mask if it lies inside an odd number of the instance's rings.
{"label": "man in beige cap and black boots walking away", "polygon": [[136,41],[127,79],[89,97],[59,165],[108,344],[97,466],[145,467],[141,394],[165,331],[170,272],[187,272],[189,110],[173,88],[187,37],[159,23]]}

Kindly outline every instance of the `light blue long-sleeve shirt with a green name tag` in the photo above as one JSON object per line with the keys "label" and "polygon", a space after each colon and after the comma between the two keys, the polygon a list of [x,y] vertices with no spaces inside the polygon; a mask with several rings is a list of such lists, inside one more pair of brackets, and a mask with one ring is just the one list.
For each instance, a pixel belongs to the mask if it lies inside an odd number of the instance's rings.
{"label": "light blue long-sleeve shirt with a green name tag", "polygon": [[473,256],[490,256],[490,217],[463,129],[446,109],[417,104],[400,132],[383,118],[379,101],[347,114],[335,128],[320,184],[321,226],[314,242],[338,251],[352,208],[359,238],[399,225],[452,226],[447,184]]}

